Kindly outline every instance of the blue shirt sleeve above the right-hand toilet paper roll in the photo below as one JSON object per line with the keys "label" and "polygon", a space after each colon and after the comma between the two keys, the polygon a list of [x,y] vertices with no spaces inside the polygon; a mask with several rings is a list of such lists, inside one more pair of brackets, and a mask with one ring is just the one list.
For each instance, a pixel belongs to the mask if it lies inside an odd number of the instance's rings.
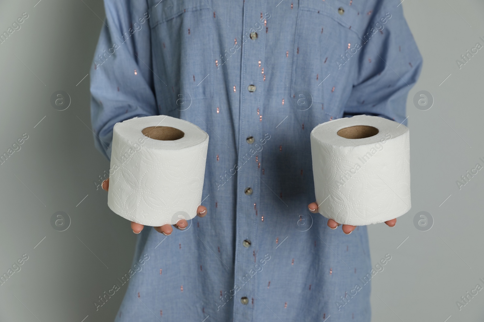
{"label": "blue shirt sleeve above the right-hand toilet paper roll", "polygon": [[356,81],[344,117],[376,115],[407,125],[408,91],[420,75],[422,56],[402,6],[396,5],[393,0],[381,0],[373,12],[368,11],[372,18],[361,37]]}

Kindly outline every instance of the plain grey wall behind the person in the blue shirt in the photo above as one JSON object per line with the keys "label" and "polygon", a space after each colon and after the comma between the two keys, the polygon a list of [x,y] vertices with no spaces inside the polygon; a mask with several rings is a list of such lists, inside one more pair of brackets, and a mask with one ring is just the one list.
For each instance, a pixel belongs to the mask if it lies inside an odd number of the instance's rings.
{"label": "plain grey wall behind the person in the blue shirt", "polygon": [[[407,104],[412,209],[394,228],[369,226],[373,265],[392,255],[372,279],[373,321],[483,321],[484,292],[460,311],[455,302],[484,286],[484,170],[461,190],[455,181],[484,165],[484,49],[460,70],[455,60],[476,42],[484,45],[484,3],[405,0],[402,6],[424,60]],[[109,163],[93,146],[89,76],[83,77],[103,4],[3,1],[0,31],[23,12],[29,18],[0,44],[0,152],[29,135],[0,165],[0,272],[22,254],[29,259],[0,286],[0,321],[112,321],[126,286],[98,311],[93,302],[129,270],[136,236],[93,183]],[[50,105],[58,90],[72,99],[65,111]],[[421,90],[434,98],[427,111],[413,104]],[[57,211],[71,219],[63,232],[50,224]],[[414,226],[419,211],[432,215],[430,230]]]}

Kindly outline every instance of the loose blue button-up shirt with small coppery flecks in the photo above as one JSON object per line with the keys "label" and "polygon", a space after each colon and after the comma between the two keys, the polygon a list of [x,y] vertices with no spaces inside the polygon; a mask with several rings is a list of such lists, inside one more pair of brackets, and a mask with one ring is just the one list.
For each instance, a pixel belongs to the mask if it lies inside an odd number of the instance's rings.
{"label": "loose blue button-up shirt with small coppery flecks", "polygon": [[135,116],[210,135],[208,215],[168,237],[142,231],[134,263],[149,260],[127,275],[116,321],[370,321],[366,227],[347,236],[307,210],[309,138],[355,114],[406,124],[422,58],[399,3],[105,0],[96,147],[109,158],[114,124]]}

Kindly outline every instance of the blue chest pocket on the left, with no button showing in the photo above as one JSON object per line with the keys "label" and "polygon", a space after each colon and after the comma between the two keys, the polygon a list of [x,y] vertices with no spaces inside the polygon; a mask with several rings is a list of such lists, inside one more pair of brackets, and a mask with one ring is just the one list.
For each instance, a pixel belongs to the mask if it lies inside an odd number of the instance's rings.
{"label": "blue chest pocket on the left, with no button showing", "polygon": [[160,112],[184,111],[195,99],[213,98],[215,25],[211,2],[152,2],[149,21]]}

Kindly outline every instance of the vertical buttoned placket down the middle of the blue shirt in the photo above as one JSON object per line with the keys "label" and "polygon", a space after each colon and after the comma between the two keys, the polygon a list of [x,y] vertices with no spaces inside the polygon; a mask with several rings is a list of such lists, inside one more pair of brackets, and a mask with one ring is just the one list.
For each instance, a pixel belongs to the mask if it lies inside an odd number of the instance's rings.
{"label": "vertical buttoned placket down the middle of the blue shirt", "polygon": [[[260,169],[258,162],[261,159],[261,152],[256,150],[256,143],[263,138],[262,122],[259,121],[259,114],[262,110],[261,98],[264,94],[259,60],[265,58],[265,33],[257,30],[256,22],[259,21],[260,12],[265,11],[265,4],[262,2],[252,3],[252,0],[244,1],[244,35],[252,39],[242,46],[242,74],[240,91],[240,116],[239,116],[239,151],[238,160],[242,165],[237,177],[237,241],[236,241],[236,263],[234,271],[234,283],[240,283],[240,278],[249,274],[254,269],[255,254],[257,254],[257,230],[261,224],[260,213],[256,216],[254,204],[259,203],[260,194]],[[251,28],[256,30],[251,30]],[[258,27],[260,28],[260,27]],[[257,34],[258,33],[258,34]],[[257,37],[257,38],[256,38]],[[245,38],[247,39],[247,37]],[[247,90],[245,90],[245,88]],[[259,109],[259,110],[257,110]],[[259,143],[260,145],[260,143]],[[257,158],[257,162],[256,162]],[[263,223],[262,223],[263,224]],[[258,259],[258,258],[257,258]],[[255,276],[253,279],[257,279]],[[241,285],[242,286],[242,285]],[[253,307],[246,305],[250,298],[255,297],[257,283],[251,281],[245,284],[244,293],[239,294],[241,303],[234,301],[233,312],[234,322],[251,321]],[[242,297],[241,297],[242,296]]]}

